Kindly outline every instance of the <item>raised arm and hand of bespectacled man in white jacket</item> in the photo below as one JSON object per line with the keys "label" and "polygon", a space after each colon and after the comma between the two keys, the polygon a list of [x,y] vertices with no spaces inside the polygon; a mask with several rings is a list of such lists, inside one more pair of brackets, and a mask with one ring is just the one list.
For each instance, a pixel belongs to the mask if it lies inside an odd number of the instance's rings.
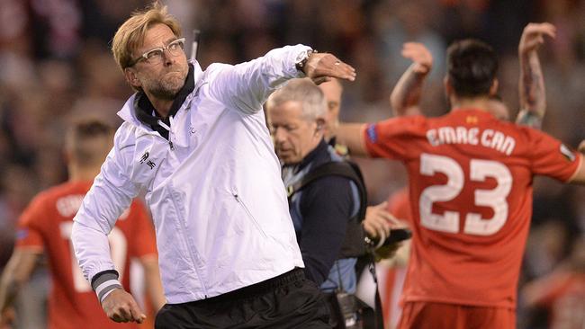
{"label": "raised arm and hand of bespectacled man in white jacket", "polygon": [[213,64],[208,71],[215,76],[211,93],[248,113],[262,110],[268,96],[295,77],[307,76],[316,84],[331,77],[356,79],[353,67],[332,54],[315,52],[303,45],[273,49],[261,58],[236,66]]}

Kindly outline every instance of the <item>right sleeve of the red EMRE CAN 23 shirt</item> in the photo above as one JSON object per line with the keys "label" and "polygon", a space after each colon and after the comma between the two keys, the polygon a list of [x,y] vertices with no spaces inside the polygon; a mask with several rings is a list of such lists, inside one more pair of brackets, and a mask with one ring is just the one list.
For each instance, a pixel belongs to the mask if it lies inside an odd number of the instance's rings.
{"label": "right sleeve of the red EMRE CAN 23 shirt", "polygon": [[571,180],[582,161],[581,154],[542,131],[527,129],[527,133],[530,140],[532,172],[562,182]]}

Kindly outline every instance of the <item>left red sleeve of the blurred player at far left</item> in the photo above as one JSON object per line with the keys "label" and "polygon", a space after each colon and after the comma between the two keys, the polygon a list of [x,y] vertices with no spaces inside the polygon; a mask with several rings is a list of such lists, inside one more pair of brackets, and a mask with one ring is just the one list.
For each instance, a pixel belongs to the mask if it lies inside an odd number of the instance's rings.
{"label": "left red sleeve of the blurred player at far left", "polygon": [[18,218],[15,236],[15,248],[34,248],[44,250],[42,238],[42,219],[48,214],[45,202],[36,197],[29,206],[24,209],[23,214]]}

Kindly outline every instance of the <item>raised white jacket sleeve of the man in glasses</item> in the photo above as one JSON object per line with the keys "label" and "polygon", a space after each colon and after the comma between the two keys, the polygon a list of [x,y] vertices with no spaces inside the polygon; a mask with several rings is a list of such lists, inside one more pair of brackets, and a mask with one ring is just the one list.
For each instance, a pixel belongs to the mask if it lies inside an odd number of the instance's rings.
{"label": "raised white jacket sleeve of the man in glasses", "polygon": [[247,113],[262,110],[268,96],[286,81],[304,76],[295,67],[299,55],[311,49],[296,45],[270,50],[265,56],[236,66],[212,64],[205,78],[217,99]]}

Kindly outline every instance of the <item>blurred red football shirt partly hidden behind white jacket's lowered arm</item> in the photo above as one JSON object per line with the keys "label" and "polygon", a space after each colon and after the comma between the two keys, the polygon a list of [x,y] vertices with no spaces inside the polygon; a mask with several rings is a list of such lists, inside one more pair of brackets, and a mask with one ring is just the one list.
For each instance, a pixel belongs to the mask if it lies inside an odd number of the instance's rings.
{"label": "blurred red football shirt partly hidden behind white jacket's lowered arm", "polygon": [[[71,245],[73,217],[92,182],[66,182],[41,192],[18,222],[16,248],[37,248],[49,260],[49,328],[138,328],[108,319],[89,282],[77,265]],[[157,253],[154,229],[141,203],[133,201],[109,235],[112,260],[130,290],[131,257]]]}

